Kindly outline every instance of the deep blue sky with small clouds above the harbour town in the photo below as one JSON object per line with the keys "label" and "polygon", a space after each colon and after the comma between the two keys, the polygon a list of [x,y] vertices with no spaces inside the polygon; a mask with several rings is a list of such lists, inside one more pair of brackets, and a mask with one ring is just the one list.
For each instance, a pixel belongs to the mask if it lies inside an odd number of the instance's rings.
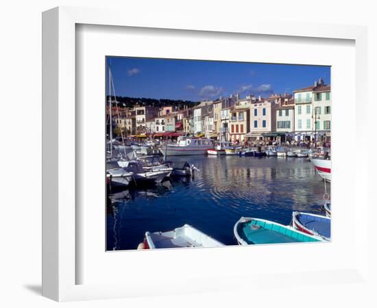
{"label": "deep blue sky with small clouds above the harbour town", "polygon": [[108,57],[109,64],[115,94],[121,97],[204,101],[236,93],[240,97],[291,93],[319,77],[330,84],[330,66],[141,57]]}

